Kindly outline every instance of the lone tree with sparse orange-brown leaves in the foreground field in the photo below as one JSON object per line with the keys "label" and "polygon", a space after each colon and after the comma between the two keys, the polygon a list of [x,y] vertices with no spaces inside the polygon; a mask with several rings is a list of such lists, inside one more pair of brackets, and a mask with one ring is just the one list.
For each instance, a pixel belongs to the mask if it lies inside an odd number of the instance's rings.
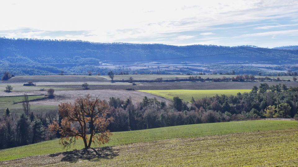
{"label": "lone tree with sparse orange-brown leaves in the foreground field", "polygon": [[62,117],[61,125],[54,122],[49,125],[49,129],[52,132],[59,131],[60,143],[64,147],[70,147],[71,144],[76,143],[76,139],[81,138],[85,148],[90,148],[91,143],[107,143],[112,135],[107,130],[114,119],[110,116],[109,104],[98,97],[86,95],[73,104],[61,103],[59,114]]}

